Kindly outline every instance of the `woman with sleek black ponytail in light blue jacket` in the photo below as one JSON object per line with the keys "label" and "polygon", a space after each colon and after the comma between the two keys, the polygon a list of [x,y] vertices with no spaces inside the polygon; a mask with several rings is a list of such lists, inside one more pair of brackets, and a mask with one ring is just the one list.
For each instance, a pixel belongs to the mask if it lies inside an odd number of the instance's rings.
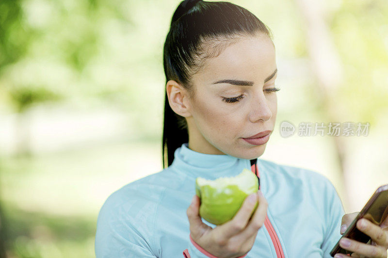
{"label": "woman with sleek black ponytail in light blue jacket", "polygon": [[[179,4],[164,44],[164,169],[109,196],[98,216],[97,258],[330,257],[341,219],[349,225],[357,213],[344,216],[326,177],[257,160],[277,112],[271,38],[240,6]],[[195,178],[236,176],[243,168],[258,175],[258,193],[223,225],[202,220]],[[386,232],[368,221],[367,228],[377,244],[352,241],[347,249],[386,257]]]}

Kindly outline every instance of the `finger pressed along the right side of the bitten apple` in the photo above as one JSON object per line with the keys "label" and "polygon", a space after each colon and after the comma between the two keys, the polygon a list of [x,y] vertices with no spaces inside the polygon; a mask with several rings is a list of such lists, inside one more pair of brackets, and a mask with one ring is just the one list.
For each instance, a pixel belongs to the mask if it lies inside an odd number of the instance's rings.
{"label": "finger pressed along the right side of the bitten apple", "polygon": [[223,228],[225,230],[224,235],[226,238],[237,235],[245,228],[257,201],[258,195],[256,193],[250,194],[244,199],[242,206],[234,217],[224,224],[225,227]]}

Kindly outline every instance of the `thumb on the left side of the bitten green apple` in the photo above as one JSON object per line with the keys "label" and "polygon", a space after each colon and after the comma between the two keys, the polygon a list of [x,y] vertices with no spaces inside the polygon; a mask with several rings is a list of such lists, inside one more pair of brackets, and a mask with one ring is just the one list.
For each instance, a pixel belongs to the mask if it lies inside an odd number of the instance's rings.
{"label": "thumb on the left side of the bitten green apple", "polygon": [[189,219],[190,223],[190,233],[193,239],[197,239],[201,237],[206,230],[211,229],[210,226],[206,225],[202,222],[201,217],[199,216],[199,205],[200,205],[200,199],[195,194],[192,200],[192,203],[190,204],[189,208],[187,208],[187,218]]}

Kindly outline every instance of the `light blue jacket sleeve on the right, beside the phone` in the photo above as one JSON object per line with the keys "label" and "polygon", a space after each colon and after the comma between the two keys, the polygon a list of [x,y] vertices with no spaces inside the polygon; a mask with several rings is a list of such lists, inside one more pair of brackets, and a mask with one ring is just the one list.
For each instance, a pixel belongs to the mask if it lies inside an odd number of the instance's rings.
{"label": "light blue jacket sleeve on the right, beside the phone", "polygon": [[345,211],[337,190],[328,179],[326,190],[326,212],[324,214],[326,221],[326,233],[321,245],[321,249],[323,250],[323,258],[332,258],[330,256],[330,251],[342,237],[342,235],[339,233],[339,230],[342,216],[345,215]]}

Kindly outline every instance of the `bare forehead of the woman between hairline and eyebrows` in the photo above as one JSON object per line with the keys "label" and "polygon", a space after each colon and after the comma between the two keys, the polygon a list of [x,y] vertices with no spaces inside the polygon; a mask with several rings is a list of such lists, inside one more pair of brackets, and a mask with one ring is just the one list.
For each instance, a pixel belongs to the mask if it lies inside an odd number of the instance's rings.
{"label": "bare forehead of the woman between hairline and eyebrows", "polygon": [[240,79],[264,81],[276,68],[275,47],[265,35],[241,38],[204,61],[195,81]]}

